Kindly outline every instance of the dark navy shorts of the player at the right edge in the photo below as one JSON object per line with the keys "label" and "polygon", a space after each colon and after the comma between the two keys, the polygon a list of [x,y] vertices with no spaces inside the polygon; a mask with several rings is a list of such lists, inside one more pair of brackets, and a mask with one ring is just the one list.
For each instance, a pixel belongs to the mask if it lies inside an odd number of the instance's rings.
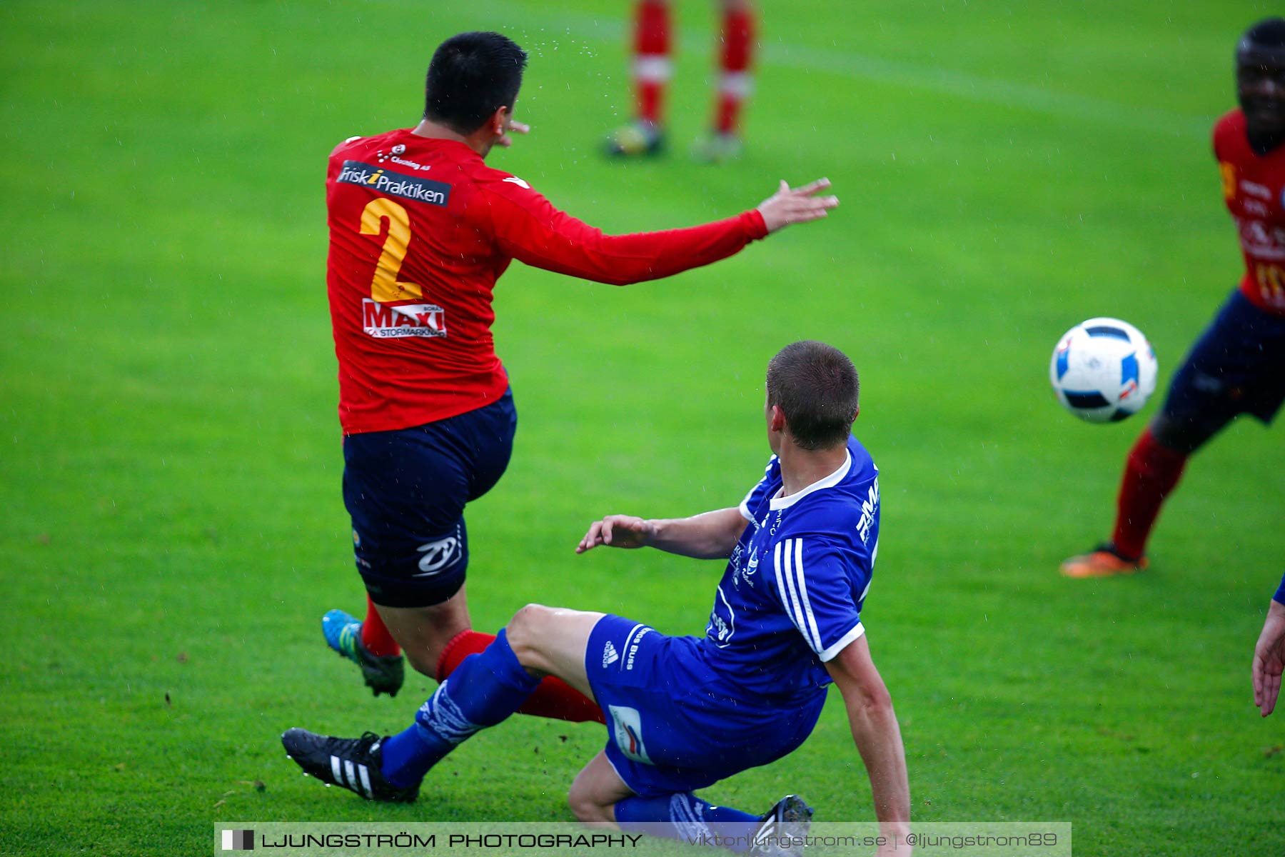
{"label": "dark navy shorts of the player at the right edge", "polygon": [[1163,414],[1204,441],[1237,414],[1271,423],[1285,401],[1285,317],[1231,293],[1169,383]]}

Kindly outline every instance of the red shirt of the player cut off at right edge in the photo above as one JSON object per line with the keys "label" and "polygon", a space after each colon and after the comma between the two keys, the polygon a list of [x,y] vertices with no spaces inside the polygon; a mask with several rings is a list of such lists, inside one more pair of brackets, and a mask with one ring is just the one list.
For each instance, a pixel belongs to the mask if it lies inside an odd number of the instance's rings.
{"label": "red shirt of the player cut off at right edge", "polygon": [[1236,109],[1214,126],[1213,152],[1245,254],[1240,290],[1259,310],[1285,315],[1285,145],[1257,154]]}

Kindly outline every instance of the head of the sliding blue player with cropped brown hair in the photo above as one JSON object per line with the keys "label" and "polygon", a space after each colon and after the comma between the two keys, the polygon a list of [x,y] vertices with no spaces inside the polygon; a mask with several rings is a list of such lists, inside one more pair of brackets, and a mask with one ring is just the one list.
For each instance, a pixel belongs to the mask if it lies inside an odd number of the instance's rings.
{"label": "head of the sliding blue player with cropped brown hair", "polygon": [[804,450],[847,443],[857,419],[857,367],[822,342],[794,342],[767,364],[767,403],[785,414],[794,442]]}

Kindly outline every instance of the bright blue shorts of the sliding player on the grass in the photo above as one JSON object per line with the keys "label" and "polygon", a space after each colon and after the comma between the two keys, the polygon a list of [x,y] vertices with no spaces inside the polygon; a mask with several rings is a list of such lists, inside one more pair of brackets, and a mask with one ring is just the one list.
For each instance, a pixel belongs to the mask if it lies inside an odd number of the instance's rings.
{"label": "bright blue shorts of the sliding player on the grass", "polygon": [[607,758],[641,797],[694,791],[775,762],[812,732],[825,689],[752,699],[709,671],[695,637],[619,615],[589,635],[585,671],[607,714]]}

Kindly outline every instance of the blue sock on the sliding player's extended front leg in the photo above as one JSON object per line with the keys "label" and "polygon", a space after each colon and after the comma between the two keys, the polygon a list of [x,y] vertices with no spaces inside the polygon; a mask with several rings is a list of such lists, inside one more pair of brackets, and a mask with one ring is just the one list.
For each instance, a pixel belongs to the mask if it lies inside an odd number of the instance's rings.
{"label": "blue sock on the sliding player's extended front leg", "polygon": [[491,645],[460,662],[410,729],[384,741],[384,779],[398,788],[415,785],[456,744],[518,711],[537,685],[540,678],[518,662],[500,631]]}

